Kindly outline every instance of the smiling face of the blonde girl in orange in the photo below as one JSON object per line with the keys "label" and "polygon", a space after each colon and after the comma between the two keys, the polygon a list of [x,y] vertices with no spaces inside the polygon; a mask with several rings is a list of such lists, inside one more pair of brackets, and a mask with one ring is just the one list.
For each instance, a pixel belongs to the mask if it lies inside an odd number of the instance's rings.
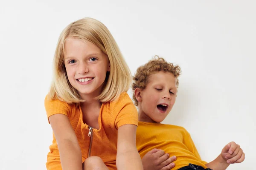
{"label": "smiling face of the blonde girl in orange", "polygon": [[93,43],[72,37],[67,38],[64,49],[64,65],[70,84],[82,99],[98,96],[107,71],[110,71],[108,56]]}

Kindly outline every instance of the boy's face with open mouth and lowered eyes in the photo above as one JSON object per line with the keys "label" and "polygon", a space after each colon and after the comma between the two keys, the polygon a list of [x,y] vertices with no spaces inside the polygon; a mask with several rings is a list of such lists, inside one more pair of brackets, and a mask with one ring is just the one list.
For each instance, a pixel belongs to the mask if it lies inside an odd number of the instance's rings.
{"label": "boy's face with open mouth and lowered eyes", "polygon": [[157,72],[148,79],[146,88],[140,91],[139,119],[143,122],[162,122],[176,100],[177,79],[172,73]]}

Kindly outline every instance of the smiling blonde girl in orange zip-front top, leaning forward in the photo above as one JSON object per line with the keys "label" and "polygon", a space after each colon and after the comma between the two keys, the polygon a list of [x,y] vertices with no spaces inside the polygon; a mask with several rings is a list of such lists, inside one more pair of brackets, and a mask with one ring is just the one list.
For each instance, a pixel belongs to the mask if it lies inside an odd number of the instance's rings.
{"label": "smiling blonde girl in orange zip-front top, leaning forward", "polygon": [[[61,33],[45,98],[53,141],[48,170],[143,170],[131,73],[108,28],[84,18]],[[132,164],[131,164],[132,162]]]}

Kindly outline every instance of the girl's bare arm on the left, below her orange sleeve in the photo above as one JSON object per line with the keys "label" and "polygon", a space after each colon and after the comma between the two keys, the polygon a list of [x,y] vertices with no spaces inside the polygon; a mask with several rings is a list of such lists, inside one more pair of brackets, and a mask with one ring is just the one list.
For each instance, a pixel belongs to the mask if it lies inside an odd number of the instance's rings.
{"label": "girl's bare arm on the left, below her orange sleeve", "polygon": [[76,134],[64,114],[49,116],[55,135],[63,170],[82,170],[82,154]]}

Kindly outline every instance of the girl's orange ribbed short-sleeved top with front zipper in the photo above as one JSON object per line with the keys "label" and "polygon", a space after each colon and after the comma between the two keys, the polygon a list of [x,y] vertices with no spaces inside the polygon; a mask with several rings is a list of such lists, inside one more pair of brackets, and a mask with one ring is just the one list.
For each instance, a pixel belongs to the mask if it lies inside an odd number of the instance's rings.
{"label": "girl's orange ribbed short-sleeved top with front zipper", "polygon": [[[99,113],[99,129],[93,129],[90,137],[89,126],[83,122],[83,113],[80,106],[69,105],[60,100],[45,98],[47,118],[54,114],[67,115],[73,130],[76,133],[82,153],[82,161],[88,157],[90,140],[90,156],[99,156],[107,167],[116,170],[117,130],[126,124],[138,125],[138,112],[131,98],[126,92],[113,102],[103,103]],[[62,170],[58,145],[53,134],[53,141],[47,155],[47,170]]]}

